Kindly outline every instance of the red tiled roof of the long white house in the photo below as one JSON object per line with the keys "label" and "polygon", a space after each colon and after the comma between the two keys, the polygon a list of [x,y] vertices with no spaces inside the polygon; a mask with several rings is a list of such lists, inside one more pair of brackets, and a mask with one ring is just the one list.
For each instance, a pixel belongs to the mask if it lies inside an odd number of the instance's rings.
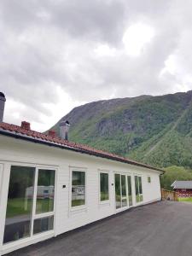
{"label": "red tiled roof of the long white house", "polygon": [[68,142],[66,140],[61,139],[60,137],[50,136],[51,133],[49,133],[48,135],[45,135],[44,133],[40,133],[38,131],[26,130],[25,125],[21,127],[18,125],[0,123],[0,134],[11,136],[11,137],[19,137],[20,139],[30,140],[36,143],[37,142],[45,143],[55,147],[66,148],[66,149],[78,151],[84,154],[96,155],[102,158],[124,162],[133,166],[142,166],[151,170],[164,172],[159,168],[148,166],[134,160],[129,160],[117,154],[108,153],[102,150],[98,150],[96,148],[90,148],[89,146],[79,144],[79,143]]}

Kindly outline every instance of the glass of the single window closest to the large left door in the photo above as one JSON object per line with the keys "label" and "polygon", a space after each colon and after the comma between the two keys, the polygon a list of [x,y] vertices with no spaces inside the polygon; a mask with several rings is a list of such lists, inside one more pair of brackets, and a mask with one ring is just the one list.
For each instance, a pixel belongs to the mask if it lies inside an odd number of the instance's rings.
{"label": "glass of the single window closest to the large left door", "polygon": [[85,172],[72,172],[72,207],[85,204]]}

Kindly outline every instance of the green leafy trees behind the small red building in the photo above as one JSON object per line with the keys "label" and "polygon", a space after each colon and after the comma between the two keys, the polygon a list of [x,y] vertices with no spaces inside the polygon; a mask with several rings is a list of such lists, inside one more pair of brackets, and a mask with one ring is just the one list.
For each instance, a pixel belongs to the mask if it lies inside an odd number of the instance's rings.
{"label": "green leafy trees behind the small red building", "polygon": [[166,173],[160,177],[161,187],[172,190],[175,180],[192,180],[192,170],[180,166],[170,166],[165,169]]}

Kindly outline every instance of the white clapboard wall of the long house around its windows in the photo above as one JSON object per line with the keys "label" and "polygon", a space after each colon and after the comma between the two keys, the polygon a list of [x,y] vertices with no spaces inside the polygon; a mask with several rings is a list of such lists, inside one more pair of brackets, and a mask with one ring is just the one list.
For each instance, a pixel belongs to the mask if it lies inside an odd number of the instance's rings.
{"label": "white clapboard wall of the long house around its windows", "polygon": [[[4,178],[2,193],[0,195],[0,209],[1,212],[3,212],[0,219],[0,234],[3,234],[3,224],[5,221],[10,165],[19,165],[20,163],[34,166],[54,166],[58,170],[55,205],[55,236],[67,230],[73,230],[84,224],[96,221],[97,219],[108,217],[116,212],[114,185],[112,186],[112,183],[114,183],[114,172],[131,174],[134,206],[136,205],[134,174],[141,175],[143,179],[143,204],[160,200],[160,172],[150,171],[143,167],[131,166],[87,154],[75,153],[61,148],[0,136],[0,168],[1,164],[6,166],[3,168]],[[72,168],[72,166],[87,170],[87,207],[79,211],[71,211],[69,207],[71,203],[70,168]],[[99,204],[99,169],[109,172],[110,202],[103,205]],[[151,177],[151,183],[148,183],[148,176]],[[65,189],[62,188],[63,185],[66,185]],[[0,235],[0,252],[2,243],[3,235]],[[29,243],[30,242],[27,244]],[[18,247],[20,247],[20,245]],[[7,251],[9,251],[9,249]]]}

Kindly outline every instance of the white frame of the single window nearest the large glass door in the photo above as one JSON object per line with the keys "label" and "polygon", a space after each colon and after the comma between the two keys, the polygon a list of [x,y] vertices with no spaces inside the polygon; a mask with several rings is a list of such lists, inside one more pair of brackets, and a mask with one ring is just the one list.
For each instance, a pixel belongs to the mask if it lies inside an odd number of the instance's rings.
{"label": "white frame of the single window nearest the large glass door", "polygon": [[[70,212],[81,212],[87,209],[87,168],[85,167],[74,167],[69,166],[70,178],[69,178],[69,210]],[[72,207],[72,181],[73,181],[73,172],[84,172],[84,185],[85,185],[85,196],[84,196],[84,205]]]}

